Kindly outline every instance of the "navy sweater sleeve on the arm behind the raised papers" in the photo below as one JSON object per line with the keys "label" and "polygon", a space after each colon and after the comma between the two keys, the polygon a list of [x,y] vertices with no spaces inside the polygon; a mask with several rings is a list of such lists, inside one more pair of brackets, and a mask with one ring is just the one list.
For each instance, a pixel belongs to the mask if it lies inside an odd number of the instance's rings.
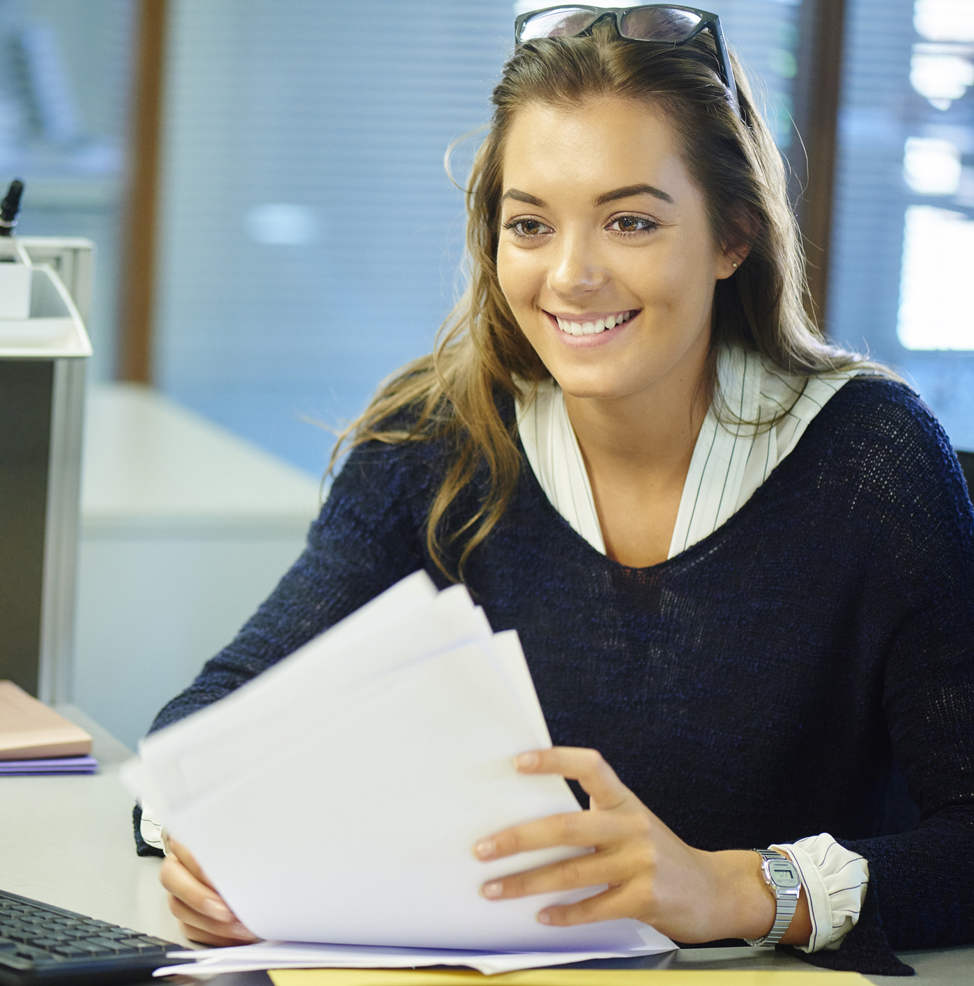
{"label": "navy sweater sleeve on the arm behind the raised papers", "polygon": [[[354,449],[301,557],[236,639],[163,707],[150,732],[223,698],[422,568],[425,516],[415,504],[431,474],[408,445],[372,442]],[[143,838],[138,807],[134,825],[139,855],[162,855]]]}

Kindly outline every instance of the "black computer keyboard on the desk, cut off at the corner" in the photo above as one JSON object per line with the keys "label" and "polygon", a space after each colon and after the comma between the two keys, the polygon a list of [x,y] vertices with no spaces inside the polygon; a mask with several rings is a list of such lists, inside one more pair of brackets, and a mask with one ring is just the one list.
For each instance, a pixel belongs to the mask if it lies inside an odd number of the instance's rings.
{"label": "black computer keyboard on the desk, cut off at the corner", "polygon": [[174,942],[140,935],[0,890],[2,986],[108,986],[141,982],[179,959]]}

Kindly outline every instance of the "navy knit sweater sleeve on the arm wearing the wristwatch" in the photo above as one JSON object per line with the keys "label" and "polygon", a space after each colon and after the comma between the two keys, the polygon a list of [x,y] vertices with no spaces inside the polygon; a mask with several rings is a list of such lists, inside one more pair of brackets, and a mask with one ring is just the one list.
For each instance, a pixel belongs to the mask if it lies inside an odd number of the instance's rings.
{"label": "navy knit sweater sleeve on the arm wearing the wristwatch", "polygon": [[870,971],[885,963],[887,974],[897,972],[892,950],[969,944],[974,928],[974,512],[937,421],[915,398],[896,403],[873,453],[884,467],[862,463],[858,496],[878,547],[860,631],[870,632],[870,612],[896,613],[881,704],[920,820],[838,839],[867,860],[869,892],[841,948],[807,956],[837,969],[871,956]]}

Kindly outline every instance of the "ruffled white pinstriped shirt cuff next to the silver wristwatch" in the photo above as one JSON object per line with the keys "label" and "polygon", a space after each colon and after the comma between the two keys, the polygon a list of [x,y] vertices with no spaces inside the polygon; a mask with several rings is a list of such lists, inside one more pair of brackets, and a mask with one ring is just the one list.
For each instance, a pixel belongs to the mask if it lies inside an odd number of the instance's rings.
{"label": "ruffled white pinstriped shirt cuff next to the silver wristwatch", "polygon": [[828,832],[769,848],[791,858],[807,896],[811,938],[800,950],[837,950],[859,921],[870,881],[869,863],[840,846]]}

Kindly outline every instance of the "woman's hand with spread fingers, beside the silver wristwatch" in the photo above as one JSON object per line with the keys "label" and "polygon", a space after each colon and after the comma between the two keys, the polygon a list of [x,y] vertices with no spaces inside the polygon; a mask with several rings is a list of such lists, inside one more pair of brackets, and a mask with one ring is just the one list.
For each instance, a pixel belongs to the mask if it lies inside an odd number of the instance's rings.
{"label": "woman's hand with spread fingers, beside the silver wristwatch", "polygon": [[[607,889],[578,903],[544,908],[538,920],[576,925],[636,918],[685,943],[756,939],[770,931],[775,902],[760,877],[757,853],[711,853],[688,846],[593,749],[556,746],[522,753],[515,764],[524,774],[561,774],[578,781],[591,807],[526,822],[481,839],[473,850],[477,859],[502,859],[553,846],[577,846],[591,852],[491,880],[481,888],[488,899],[607,883]],[[804,922],[797,913],[786,935],[786,940],[796,939],[795,944],[800,944],[801,935],[796,926],[807,922],[807,906],[803,909]]]}

